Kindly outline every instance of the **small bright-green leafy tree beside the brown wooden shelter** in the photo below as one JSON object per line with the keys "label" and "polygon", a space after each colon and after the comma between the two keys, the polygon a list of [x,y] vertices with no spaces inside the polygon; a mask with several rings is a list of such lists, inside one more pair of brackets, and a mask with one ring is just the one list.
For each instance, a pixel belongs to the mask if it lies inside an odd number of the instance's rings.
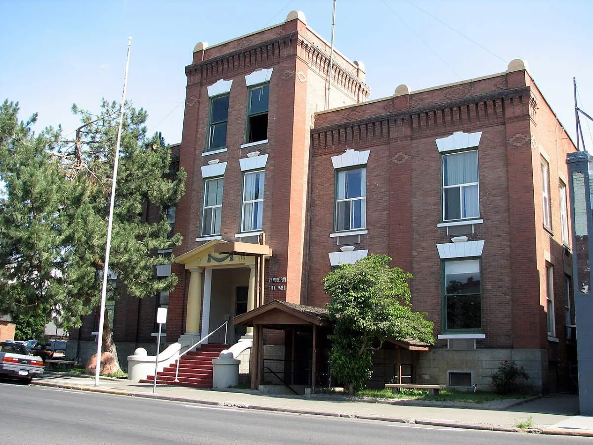
{"label": "small bright-green leafy tree beside the brown wooden shelter", "polygon": [[372,374],[372,355],[387,338],[434,343],[432,322],[412,310],[408,280],[412,275],[391,268],[387,255],[369,255],[346,264],[323,279],[331,297],[331,374],[349,393],[364,386]]}

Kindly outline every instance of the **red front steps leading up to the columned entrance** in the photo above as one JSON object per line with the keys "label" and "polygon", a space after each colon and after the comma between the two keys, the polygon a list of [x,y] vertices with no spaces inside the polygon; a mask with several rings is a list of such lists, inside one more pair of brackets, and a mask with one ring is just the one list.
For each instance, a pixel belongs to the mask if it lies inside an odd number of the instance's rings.
{"label": "red front steps leading up to the columned entrance", "polygon": [[[229,345],[201,345],[195,351],[187,352],[181,356],[179,363],[179,382],[175,380],[177,361],[157,373],[158,384],[171,384],[176,386],[189,386],[193,388],[212,387],[212,359],[218,358],[222,350]],[[153,383],[154,374],[140,380],[141,383]]]}

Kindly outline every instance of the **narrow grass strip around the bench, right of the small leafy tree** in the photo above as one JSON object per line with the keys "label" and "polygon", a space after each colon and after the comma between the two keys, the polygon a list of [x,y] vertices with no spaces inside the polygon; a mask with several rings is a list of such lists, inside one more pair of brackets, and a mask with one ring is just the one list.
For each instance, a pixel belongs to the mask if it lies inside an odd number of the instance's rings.
{"label": "narrow grass strip around the bench, right of the small leafy tree", "polygon": [[359,397],[377,399],[416,399],[434,400],[437,402],[464,402],[464,403],[486,403],[493,400],[524,399],[529,397],[525,394],[497,394],[494,392],[463,392],[452,390],[441,390],[436,396],[429,396],[425,389],[402,389],[401,392],[392,393],[391,389],[362,389],[356,393]]}

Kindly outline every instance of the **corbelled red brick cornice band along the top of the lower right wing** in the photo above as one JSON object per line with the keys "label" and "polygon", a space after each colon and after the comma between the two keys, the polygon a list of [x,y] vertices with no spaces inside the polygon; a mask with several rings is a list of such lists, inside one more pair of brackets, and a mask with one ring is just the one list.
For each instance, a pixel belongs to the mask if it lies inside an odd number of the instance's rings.
{"label": "corbelled red brick cornice band along the top of the lower right wing", "polygon": [[535,110],[537,103],[530,87],[520,87],[313,128],[311,143],[314,154],[372,147],[384,144],[390,138],[442,134],[476,125],[496,125],[525,116],[533,119]]}

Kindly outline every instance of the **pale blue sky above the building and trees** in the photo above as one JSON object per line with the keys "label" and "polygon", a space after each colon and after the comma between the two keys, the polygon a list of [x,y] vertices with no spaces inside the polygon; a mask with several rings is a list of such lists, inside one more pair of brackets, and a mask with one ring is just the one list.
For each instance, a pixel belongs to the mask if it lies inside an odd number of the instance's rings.
{"label": "pale blue sky above the building and trees", "polygon": [[[197,42],[211,45],[282,22],[292,9],[330,40],[332,0],[0,0],[0,99],[19,101],[37,129],[78,126],[72,103],[97,110],[122,94],[149,112],[149,131],[179,142],[186,77]],[[574,136],[572,78],[593,115],[593,1],[337,0],[335,46],[366,66],[371,99],[505,71],[527,61]],[[585,119],[586,148],[593,139]],[[593,122],[589,123],[593,129]]]}

